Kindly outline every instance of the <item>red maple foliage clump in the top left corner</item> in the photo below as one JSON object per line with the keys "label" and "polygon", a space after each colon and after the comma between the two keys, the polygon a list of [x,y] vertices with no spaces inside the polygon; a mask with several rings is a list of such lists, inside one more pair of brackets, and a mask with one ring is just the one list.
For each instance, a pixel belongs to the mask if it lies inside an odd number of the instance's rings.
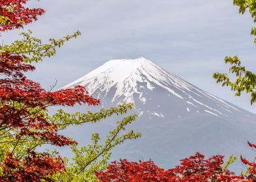
{"label": "red maple foliage clump in the top left corner", "polygon": [[0,0],[0,16],[7,17],[5,23],[1,23],[0,31],[7,31],[23,27],[22,25],[37,20],[37,16],[44,13],[41,8],[25,8],[29,0]]}

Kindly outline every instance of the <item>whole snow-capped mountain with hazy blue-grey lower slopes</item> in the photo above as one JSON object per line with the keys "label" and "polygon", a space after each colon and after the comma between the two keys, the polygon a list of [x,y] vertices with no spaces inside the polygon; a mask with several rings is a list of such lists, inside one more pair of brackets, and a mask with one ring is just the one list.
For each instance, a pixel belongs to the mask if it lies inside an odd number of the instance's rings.
{"label": "whole snow-capped mountain with hazy blue-grey lower slopes", "polygon": [[[160,166],[171,167],[196,151],[207,156],[255,155],[247,146],[248,140],[255,142],[255,114],[143,57],[110,60],[65,88],[74,85],[85,86],[101,99],[104,108],[135,103],[133,112],[138,119],[130,128],[143,136],[118,146],[113,159],[153,159]],[[99,127],[100,131],[106,129],[105,125]]]}

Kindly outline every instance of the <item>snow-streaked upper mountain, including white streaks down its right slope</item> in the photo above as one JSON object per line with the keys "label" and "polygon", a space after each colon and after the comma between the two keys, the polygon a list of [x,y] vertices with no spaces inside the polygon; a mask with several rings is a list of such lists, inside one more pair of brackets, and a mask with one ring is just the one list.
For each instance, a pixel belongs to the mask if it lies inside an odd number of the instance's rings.
{"label": "snow-streaked upper mountain, including white streaks down its right slope", "polygon": [[[112,103],[135,102],[135,99],[141,103],[146,103],[152,99],[150,98],[152,96],[149,96],[150,92],[156,89],[165,90],[168,97],[174,101],[180,100],[189,107],[204,108],[204,112],[215,116],[219,114],[229,115],[217,109],[217,105],[223,107],[225,112],[239,110],[222,99],[187,83],[180,77],[168,73],[144,57],[109,60],[64,88],[70,88],[74,85],[85,86],[89,94],[100,99],[106,96],[111,97],[109,99]],[[212,105],[212,103],[215,104]],[[187,106],[185,108],[188,108]]]}

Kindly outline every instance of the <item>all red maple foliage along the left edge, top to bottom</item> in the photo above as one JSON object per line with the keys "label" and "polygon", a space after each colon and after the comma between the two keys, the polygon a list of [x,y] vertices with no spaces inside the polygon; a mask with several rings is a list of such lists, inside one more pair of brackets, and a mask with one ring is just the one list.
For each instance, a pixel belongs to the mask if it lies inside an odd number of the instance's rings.
{"label": "all red maple foliage along the left edge, top to bottom", "polygon": [[[0,32],[20,28],[44,13],[40,8],[25,8],[25,3],[25,0],[0,0]],[[14,140],[4,142],[40,141],[55,146],[76,144],[74,140],[59,135],[57,126],[48,121],[42,111],[57,105],[99,105],[99,100],[89,96],[82,86],[56,92],[44,90],[39,83],[24,75],[35,70],[35,66],[24,62],[26,58],[22,53],[0,53],[1,138],[10,133]],[[15,148],[16,145],[5,154],[0,181],[51,181],[48,175],[65,171],[61,157],[38,153],[35,148],[28,149],[22,157],[16,157]]]}

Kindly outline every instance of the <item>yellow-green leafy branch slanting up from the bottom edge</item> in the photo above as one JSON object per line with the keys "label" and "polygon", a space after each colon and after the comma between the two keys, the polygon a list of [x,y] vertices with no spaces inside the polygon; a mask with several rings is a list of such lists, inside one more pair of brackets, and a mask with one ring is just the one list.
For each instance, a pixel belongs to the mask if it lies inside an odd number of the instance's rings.
{"label": "yellow-green leafy branch slanting up from the bottom edge", "polygon": [[[124,109],[125,105],[121,105],[121,107]],[[125,127],[135,121],[135,119],[136,115],[133,115],[116,122],[116,128],[109,132],[103,144],[100,144],[101,138],[99,133],[93,133],[91,135],[92,144],[82,146],[81,148],[72,146],[74,157],[71,160],[66,159],[67,171],[65,174],[55,175],[53,179],[55,181],[97,181],[95,171],[106,169],[112,149],[122,144],[125,140],[133,140],[142,135],[141,133],[135,133],[133,130],[122,133]]]}

